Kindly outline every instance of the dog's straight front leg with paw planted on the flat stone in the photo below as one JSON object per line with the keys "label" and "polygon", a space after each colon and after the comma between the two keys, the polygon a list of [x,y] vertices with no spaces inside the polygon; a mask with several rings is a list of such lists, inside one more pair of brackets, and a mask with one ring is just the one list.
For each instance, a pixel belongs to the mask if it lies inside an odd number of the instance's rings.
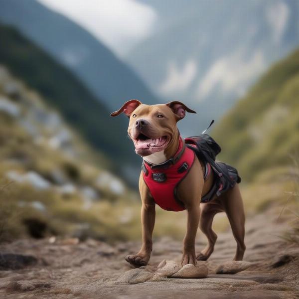
{"label": "dog's straight front leg with paw planted on the flat stone", "polygon": [[200,218],[200,208],[197,202],[187,205],[187,231],[183,240],[182,265],[196,264],[195,237]]}

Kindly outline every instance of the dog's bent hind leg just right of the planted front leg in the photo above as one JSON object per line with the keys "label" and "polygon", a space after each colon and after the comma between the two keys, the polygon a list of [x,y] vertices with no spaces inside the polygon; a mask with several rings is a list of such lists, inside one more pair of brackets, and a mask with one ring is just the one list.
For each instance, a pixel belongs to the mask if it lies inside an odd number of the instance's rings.
{"label": "dog's bent hind leg just right of the planted front leg", "polygon": [[214,216],[219,212],[216,209],[210,209],[209,203],[200,204],[200,221],[199,228],[208,239],[206,248],[196,256],[197,261],[206,261],[214,251],[214,245],[217,240],[217,235],[212,230]]}

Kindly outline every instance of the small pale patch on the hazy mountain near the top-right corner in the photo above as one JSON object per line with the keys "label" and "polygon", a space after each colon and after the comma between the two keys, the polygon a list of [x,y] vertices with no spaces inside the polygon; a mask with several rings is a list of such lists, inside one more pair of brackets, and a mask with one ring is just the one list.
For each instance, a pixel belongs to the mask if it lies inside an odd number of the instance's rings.
{"label": "small pale patch on the hazy mountain near the top-right corner", "polygon": [[273,30],[273,40],[277,44],[286,30],[289,14],[289,7],[284,2],[276,2],[266,11],[267,20]]}

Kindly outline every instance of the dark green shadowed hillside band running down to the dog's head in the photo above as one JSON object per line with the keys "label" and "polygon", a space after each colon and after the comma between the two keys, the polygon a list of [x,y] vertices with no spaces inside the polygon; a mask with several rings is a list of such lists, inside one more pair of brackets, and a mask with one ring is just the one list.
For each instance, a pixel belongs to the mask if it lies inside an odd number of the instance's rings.
{"label": "dark green shadowed hillside band running down to the dog's head", "polygon": [[126,120],[112,120],[106,106],[71,71],[12,27],[0,25],[0,44],[0,63],[37,90],[91,145],[114,160],[122,154],[136,159],[126,138]]}

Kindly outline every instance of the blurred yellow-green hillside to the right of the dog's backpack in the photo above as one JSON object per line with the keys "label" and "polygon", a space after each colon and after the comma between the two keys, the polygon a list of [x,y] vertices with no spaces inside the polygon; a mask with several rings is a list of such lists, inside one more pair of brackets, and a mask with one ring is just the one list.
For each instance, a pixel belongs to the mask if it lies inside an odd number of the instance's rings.
{"label": "blurred yellow-green hillside to the right of the dog's backpack", "polygon": [[246,180],[292,163],[299,149],[299,50],[275,64],[212,133]]}

